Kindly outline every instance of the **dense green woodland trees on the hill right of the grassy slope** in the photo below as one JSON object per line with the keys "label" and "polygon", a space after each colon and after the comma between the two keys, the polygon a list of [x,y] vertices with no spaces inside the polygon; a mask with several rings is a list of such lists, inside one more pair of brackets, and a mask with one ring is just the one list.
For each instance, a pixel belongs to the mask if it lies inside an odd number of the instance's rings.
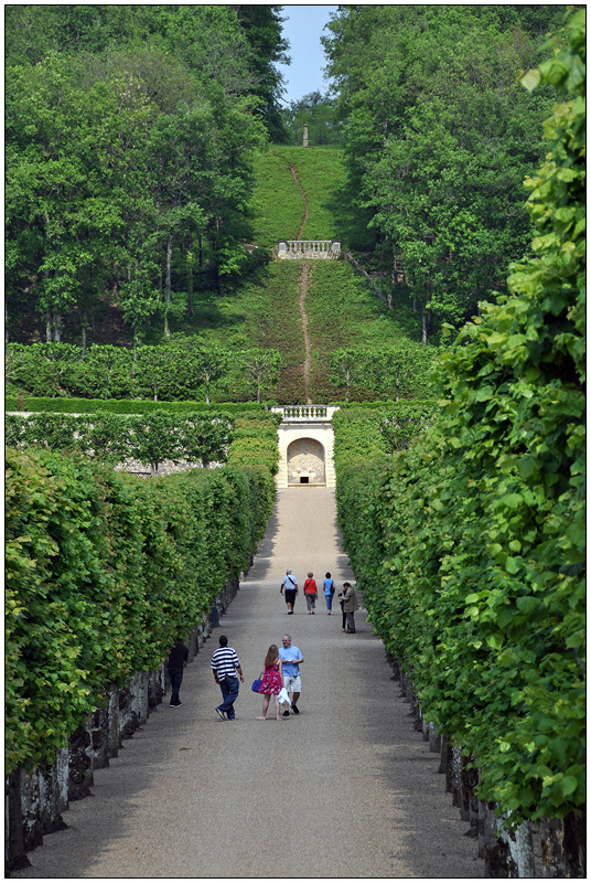
{"label": "dense green woodland trees on the hill right of the grassy slope", "polygon": [[506,291],[509,262],[530,240],[522,181],[544,157],[552,98],[524,92],[518,72],[566,8],[530,9],[340,7],[322,38],[345,125],[346,195],[375,231],[366,245],[391,272],[385,285],[420,305],[427,336]]}

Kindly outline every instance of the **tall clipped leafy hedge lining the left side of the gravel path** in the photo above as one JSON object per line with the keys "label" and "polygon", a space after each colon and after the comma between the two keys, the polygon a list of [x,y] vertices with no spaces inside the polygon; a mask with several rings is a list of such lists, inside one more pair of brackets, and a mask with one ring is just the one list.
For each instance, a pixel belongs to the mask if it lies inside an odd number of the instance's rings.
{"label": "tall clipped leafy hedge lining the left side of the gravel path", "polygon": [[109,684],[157,668],[246,570],[272,509],[272,425],[239,438],[226,467],[150,481],[8,449],[9,772],[52,763]]}

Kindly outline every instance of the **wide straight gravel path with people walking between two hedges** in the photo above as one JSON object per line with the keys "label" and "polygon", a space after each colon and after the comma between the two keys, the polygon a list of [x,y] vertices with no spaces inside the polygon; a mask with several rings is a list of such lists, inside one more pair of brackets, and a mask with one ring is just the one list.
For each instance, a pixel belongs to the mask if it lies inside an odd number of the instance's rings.
{"label": "wide straight gravel path with people walking between two hedges", "polygon": [[[279,594],[300,583],[296,614]],[[159,706],[126,741],[94,796],[71,805],[15,877],[474,877],[468,823],[445,794],[438,755],[415,732],[382,642],[356,614],[341,631],[323,597],[309,616],[307,571],[352,577],[334,493],[279,491],[255,566],[221,629],[185,670],[183,705]],[[289,630],[304,657],[299,716],[257,721],[250,692],[270,643]],[[226,634],[246,682],[236,721],[221,721],[211,670]],[[269,710],[269,714],[271,709]]]}

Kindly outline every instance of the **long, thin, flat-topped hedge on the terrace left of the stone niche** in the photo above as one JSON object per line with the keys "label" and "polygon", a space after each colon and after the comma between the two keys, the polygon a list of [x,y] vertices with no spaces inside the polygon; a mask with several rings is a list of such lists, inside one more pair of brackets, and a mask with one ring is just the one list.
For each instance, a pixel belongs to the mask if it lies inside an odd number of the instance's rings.
{"label": "long, thin, flat-topped hedge on the terrace left of the stone niche", "polygon": [[152,414],[168,412],[171,414],[243,414],[244,412],[265,413],[265,405],[257,402],[229,402],[224,405],[206,405],[204,402],[142,402],[133,400],[104,398],[50,398],[7,395],[6,411],[54,412],[58,414]]}

